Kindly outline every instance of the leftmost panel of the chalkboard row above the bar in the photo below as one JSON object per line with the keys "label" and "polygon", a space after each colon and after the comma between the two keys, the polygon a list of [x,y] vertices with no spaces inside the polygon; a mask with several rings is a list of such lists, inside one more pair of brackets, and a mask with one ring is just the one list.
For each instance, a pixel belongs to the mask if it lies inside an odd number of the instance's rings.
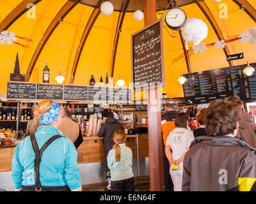
{"label": "leftmost panel of the chalkboard row above the bar", "polygon": [[26,84],[22,82],[8,82],[7,98],[13,99],[35,99],[36,84]]}

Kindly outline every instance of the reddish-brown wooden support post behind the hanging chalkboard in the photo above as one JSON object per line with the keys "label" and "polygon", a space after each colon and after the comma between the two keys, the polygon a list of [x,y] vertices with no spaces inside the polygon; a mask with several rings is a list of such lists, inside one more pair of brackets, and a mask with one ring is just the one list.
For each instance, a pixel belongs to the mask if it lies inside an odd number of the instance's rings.
{"label": "reddish-brown wooden support post behind the hanging chalkboard", "polygon": [[[156,0],[143,0],[144,24],[156,21]],[[148,150],[150,191],[163,191],[163,152],[159,89],[148,90]]]}

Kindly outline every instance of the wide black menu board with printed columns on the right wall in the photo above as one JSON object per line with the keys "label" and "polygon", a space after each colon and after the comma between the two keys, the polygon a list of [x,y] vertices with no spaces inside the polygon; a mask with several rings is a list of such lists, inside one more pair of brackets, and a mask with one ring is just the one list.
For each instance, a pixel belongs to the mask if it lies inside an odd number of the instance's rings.
{"label": "wide black menu board with printed columns on the right wall", "polygon": [[[256,70],[256,63],[250,64]],[[214,100],[237,96],[242,101],[256,99],[256,71],[248,77],[243,74],[246,64],[211,69],[184,75],[186,105],[209,103]]]}

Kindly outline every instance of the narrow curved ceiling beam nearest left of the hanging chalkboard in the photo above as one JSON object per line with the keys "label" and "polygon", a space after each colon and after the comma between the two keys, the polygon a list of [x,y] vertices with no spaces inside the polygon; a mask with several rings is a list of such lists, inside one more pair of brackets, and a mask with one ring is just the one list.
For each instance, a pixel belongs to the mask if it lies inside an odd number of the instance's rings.
{"label": "narrow curved ceiling beam nearest left of the hanging chalkboard", "polygon": [[114,68],[115,68],[115,60],[116,60],[116,50],[117,50],[117,46],[118,46],[118,40],[119,40],[119,36],[121,33],[121,29],[122,29],[122,24],[124,21],[124,17],[125,17],[125,13],[128,7],[130,0],[123,0],[122,3],[122,7],[120,9],[120,13],[119,13],[119,17],[118,17],[118,22],[116,25],[116,33],[115,33],[115,40],[114,40],[114,45],[113,45],[113,52],[112,52],[112,59],[111,59],[111,77],[114,77]]}

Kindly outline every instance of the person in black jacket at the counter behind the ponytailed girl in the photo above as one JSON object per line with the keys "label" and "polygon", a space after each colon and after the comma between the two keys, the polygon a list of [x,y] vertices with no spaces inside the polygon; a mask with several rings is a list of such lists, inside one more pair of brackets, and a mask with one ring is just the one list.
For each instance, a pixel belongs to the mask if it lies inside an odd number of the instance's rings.
{"label": "person in black jacket at the counter behind the ponytailed girl", "polygon": [[98,133],[98,136],[100,138],[103,138],[106,179],[109,181],[108,190],[110,190],[111,175],[110,170],[108,168],[107,157],[109,150],[113,149],[113,145],[115,145],[115,142],[113,141],[113,136],[117,129],[124,130],[122,124],[120,122],[117,122],[117,120],[114,118],[113,113],[109,112],[107,115],[106,122],[100,126],[100,130]]}

